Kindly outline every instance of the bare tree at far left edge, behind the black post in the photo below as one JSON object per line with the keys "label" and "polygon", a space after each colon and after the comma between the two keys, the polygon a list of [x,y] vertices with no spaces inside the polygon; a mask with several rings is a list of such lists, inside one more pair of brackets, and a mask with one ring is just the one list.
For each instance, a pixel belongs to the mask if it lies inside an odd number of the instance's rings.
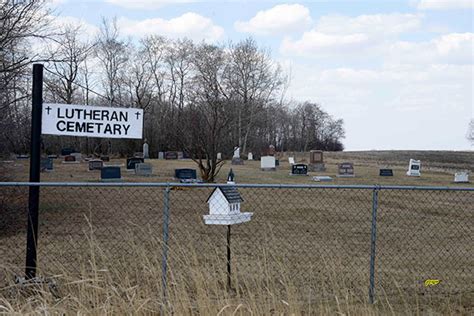
{"label": "bare tree at far left edge, behind the black post", "polygon": [[50,34],[47,15],[44,1],[0,2],[0,153],[28,148],[30,44]]}

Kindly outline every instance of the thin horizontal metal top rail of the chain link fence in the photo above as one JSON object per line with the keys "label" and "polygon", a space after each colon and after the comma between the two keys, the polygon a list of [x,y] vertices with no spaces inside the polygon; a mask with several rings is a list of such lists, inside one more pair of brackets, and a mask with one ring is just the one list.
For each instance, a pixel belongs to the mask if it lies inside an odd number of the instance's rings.
{"label": "thin horizontal metal top rail of the chain link fence", "polygon": [[428,190],[428,191],[472,191],[474,187],[448,186],[401,186],[401,185],[321,185],[321,184],[263,184],[263,183],[174,183],[174,182],[0,182],[0,187],[194,187],[215,188],[233,186],[238,188],[279,189],[359,189],[359,190]]}

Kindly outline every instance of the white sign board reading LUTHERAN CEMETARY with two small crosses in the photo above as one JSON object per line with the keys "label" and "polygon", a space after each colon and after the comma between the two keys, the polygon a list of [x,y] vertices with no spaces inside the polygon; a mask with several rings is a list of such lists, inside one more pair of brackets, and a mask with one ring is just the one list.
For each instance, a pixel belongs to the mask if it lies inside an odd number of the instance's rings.
{"label": "white sign board reading LUTHERAN CEMETARY with two small crosses", "polygon": [[141,139],[143,110],[43,104],[42,134]]}

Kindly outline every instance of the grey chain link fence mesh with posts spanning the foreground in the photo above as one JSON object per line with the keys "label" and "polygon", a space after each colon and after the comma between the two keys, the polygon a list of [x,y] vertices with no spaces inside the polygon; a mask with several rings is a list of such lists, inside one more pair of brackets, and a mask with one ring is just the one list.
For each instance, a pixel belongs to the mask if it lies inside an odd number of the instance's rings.
{"label": "grey chain link fence mesh with posts spanning the foreground", "polygon": [[[28,185],[0,183],[0,286],[24,271]],[[228,185],[40,186],[40,275],[127,270],[138,280],[153,266],[165,298],[196,275],[202,286],[272,284],[314,300],[474,298],[473,188],[237,184],[221,196]],[[206,224],[210,207],[221,225]],[[251,219],[227,225],[225,210]]]}

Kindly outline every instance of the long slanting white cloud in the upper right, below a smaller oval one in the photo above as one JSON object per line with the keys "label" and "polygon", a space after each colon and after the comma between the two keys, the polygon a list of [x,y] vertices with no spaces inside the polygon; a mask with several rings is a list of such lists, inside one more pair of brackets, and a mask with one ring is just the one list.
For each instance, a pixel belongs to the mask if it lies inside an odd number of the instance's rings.
{"label": "long slanting white cloud in the upper right, below a smaller oval one", "polygon": [[395,40],[399,34],[417,30],[422,19],[422,15],[415,14],[323,16],[315,28],[305,32],[300,39],[285,38],[280,51],[298,56],[365,57],[377,52],[382,43]]}

